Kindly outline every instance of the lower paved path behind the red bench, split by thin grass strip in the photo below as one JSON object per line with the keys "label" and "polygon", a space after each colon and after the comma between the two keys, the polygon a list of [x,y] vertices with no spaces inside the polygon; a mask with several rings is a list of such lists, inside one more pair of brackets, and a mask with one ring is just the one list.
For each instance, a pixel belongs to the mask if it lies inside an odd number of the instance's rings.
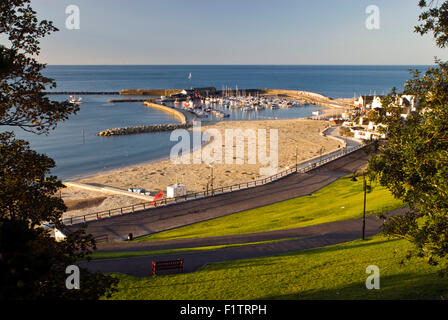
{"label": "lower paved path behind the red bench, split by thin grass strip", "polygon": [[[390,214],[400,214],[404,212],[404,210],[405,209],[395,210]],[[381,224],[382,221],[377,220],[375,216],[368,216],[366,218],[366,236],[377,234],[379,232]],[[82,267],[87,267],[92,271],[100,271],[103,273],[124,273],[138,277],[147,277],[150,276],[151,273],[152,261],[174,260],[183,258],[184,271],[194,272],[204,265],[210,263],[266,257],[353,241],[361,238],[361,228],[362,219],[351,219],[304,228],[260,232],[236,236],[212,237],[202,239],[181,239],[152,243],[129,242],[124,244],[108,244],[107,246],[102,247],[101,251],[191,248],[208,245],[245,243],[254,241],[287,239],[291,237],[302,237],[295,240],[285,240],[281,242],[239,246],[210,251],[123,259],[93,260],[90,262],[80,262],[78,264]]]}

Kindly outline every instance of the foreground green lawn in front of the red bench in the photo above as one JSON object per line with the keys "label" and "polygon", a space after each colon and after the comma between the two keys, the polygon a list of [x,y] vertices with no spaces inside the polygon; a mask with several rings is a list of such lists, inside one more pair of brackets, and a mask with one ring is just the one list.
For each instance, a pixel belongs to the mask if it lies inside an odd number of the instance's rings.
{"label": "foreground green lawn in front of the red bench", "polygon": [[[112,299],[439,299],[448,279],[422,260],[399,262],[410,244],[376,236],[325,248],[206,266],[195,273],[120,279]],[[366,267],[380,269],[367,290]]]}

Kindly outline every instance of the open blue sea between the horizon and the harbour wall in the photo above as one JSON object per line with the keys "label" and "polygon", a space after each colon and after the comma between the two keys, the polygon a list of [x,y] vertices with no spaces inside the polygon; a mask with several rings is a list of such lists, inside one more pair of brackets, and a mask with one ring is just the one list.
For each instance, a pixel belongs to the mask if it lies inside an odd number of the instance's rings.
{"label": "open blue sea between the horizon and the harbour wall", "polygon": [[[56,91],[120,91],[229,86],[294,89],[333,98],[403,88],[409,69],[427,66],[49,66]],[[188,74],[192,79],[188,80]]]}

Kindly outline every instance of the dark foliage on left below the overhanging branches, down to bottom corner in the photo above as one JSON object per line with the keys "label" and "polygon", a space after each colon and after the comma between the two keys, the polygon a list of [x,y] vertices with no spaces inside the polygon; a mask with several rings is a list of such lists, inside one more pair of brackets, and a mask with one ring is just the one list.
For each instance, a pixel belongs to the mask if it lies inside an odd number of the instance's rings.
{"label": "dark foliage on left below the overhanging branches, down to bottom corner", "polygon": [[81,289],[67,290],[65,268],[96,248],[85,229],[56,242],[45,226],[64,230],[62,187],[49,175],[55,165],[12,133],[0,134],[0,299],[97,299],[116,280],[81,269]]}

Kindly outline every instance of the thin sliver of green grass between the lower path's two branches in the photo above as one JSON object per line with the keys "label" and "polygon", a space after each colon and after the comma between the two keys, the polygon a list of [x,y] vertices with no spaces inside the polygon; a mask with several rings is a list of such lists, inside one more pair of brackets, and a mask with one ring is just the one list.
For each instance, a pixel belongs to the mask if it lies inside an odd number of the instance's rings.
{"label": "thin sliver of green grass between the lower path's two branches", "polygon": [[223,244],[223,245],[217,245],[217,246],[180,248],[180,249],[164,249],[164,250],[152,250],[152,251],[151,250],[142,250],[142,251],[94,252],[90,255],[90,258],[92,260],[118,259],[118,258],[131,258],[131,257],[142,257],[142,256],[173,254],[173,253],[210,251],[210,250],[219,250],[219,249],[234,248],[234,247],[241,247],[241,246],[251,246],[251,245],[257,245],[257,244],[275,243],[275,242],[296,240],[296,239],[302,239],[302,238],[303,237],[294,237],[294,238],[284,238],[284,239],[279,239],[279,240],[267,240],[267,241],[257,241],[257,242],[247,242],[247,243]]}

